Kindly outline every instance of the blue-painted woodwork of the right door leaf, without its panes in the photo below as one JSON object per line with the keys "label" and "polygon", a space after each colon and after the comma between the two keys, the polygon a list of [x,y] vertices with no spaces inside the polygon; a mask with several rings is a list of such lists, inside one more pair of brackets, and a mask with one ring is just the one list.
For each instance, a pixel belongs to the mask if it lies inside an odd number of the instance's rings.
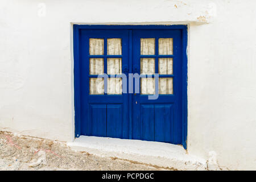
{"label": "blue-painted woodwork of the right door leaf, without its panes", "polygon": [[[155,140],[160,142],[170,142],[174,144],[182,143],[182,123],[181,123],[181,31],[180,30],[134,30],[133,31],[133,66],[138,67],[137,73],[140,74],[141,57],[151,57],[141,55],[141,38],[155,38],[155,73],[158,73],[158,39],[173,38],[174,54],[172,56],[161,55],[160,57],[173,57],[173,75],[159,75],[161,77],[173,77],[174,94],[159,95],[158,100],[148,100],[147,96],[133,94],[133,139]],[[135,69],[134,69],[135,71]],[[137,102],[137,104],[136,104]],[[141,107],[147,105],[147,107]],[[155,107],[158,105],[158,107]],[[165,105],[173,105],[174,117],[169,118],[168,122],[160,125],[160,113],[165,113]],[[145,109],[147,108],[147,109]],[[151,108],[151,109],[149,109]],[[155,117],[157,112],[158,118]],[[169,113],[171,110],[169,111]],[[158,122],[158,123],[157,123]],[[172,126],[170,124],[172,122]],[[143,127],[143,129],[141,129]],[[154,129],[154,134],[151,130]],[[166,133],[163,133],[167,129]],[[169,129],[169,130],[168,130]],[[157,133],[157,134],[156,134]],[[156,135],[156,138],[154,138]],[[166,137],[169,135],[169,137]],[[172,139],[172,140],[171,140]]]}

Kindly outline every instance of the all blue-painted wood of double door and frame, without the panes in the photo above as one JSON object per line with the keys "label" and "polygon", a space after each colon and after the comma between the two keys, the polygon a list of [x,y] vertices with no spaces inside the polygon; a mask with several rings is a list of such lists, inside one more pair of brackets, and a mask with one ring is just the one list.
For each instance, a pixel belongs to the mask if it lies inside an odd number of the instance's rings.
{"label": "all blue-painted wood of double door and frame, without the panes", "polygon": [[[75,134],[155,140],[187,148],[187,26],[74,25]],[[89,55],[89,38],[104,39],[104,55]],[[122,39],[122,55],[106,55],[106,39]],[[140,55],[140,39],[155,38],[155,55]],[[174,55],[158,55],[158,39],[174,38]],[[139,73],[141,57],[173,57],[174,94],[148,100],[146,95],[89,95],[89,58],[121,57],[122,70]],[[127,78],[128,83],[128,78]],[[137,103],[137,104],[136,104]]]}

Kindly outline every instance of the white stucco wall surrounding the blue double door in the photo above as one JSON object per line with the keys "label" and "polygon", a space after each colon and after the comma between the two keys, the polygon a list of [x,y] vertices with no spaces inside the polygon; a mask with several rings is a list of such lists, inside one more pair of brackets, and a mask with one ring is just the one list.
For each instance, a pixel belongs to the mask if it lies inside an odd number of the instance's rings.
{"label": "white stucco wall surrounding the blue double door", "polygon": [[[46,12],[44,14],[44,5]],[[256,1],[2,0],[0,130],[72,141],[72,23],[188,24],[188,152],[256,169]]]}

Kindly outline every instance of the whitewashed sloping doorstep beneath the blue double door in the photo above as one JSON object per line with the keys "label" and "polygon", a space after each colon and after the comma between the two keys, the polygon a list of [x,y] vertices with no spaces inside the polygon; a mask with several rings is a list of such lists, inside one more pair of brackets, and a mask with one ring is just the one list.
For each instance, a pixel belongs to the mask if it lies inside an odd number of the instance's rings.
{"label": "whitewashed sloping doorstep beneath the blue double door", "polygon": [[177,170],[207,170],[207,160],[189,155],[183,146],[105,137],[80,136],[67,143],[72,150],[131,160]]}

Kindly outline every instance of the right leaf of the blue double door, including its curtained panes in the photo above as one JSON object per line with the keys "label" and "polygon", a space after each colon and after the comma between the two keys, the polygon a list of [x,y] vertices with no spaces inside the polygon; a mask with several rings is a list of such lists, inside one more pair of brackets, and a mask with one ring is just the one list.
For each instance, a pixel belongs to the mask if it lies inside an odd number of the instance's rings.
{"label": "right leaf of the blue double door, including its curtained panes", "polygon": [[[182,142],[181,63],[180,30],[133,31],[133,72],[146,76],[133,94],[133,139]],[[156,94],[154,73],[159,74],[159,96],[149,100]]]}

